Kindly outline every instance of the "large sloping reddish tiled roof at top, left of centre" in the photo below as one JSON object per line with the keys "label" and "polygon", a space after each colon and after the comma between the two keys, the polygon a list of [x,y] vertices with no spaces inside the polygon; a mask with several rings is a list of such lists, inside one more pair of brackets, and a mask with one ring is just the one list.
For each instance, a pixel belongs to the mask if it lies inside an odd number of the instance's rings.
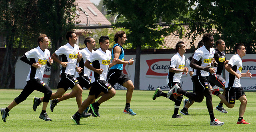
{"label": "large sloping reddish tiled roof at top, left of centre", "polygon": [[[76,0],[77,11],[79,12],[79,18],[76,21],[79,21],[78,26],[86,26],[87,18],[90,26],[97,25],[111,25],[111,23],[105,18],[105,16],[90,2],[90,0]],[[86,12],[86,13],[84,13]],[[96,14],[95,14],[96,13]]]}

